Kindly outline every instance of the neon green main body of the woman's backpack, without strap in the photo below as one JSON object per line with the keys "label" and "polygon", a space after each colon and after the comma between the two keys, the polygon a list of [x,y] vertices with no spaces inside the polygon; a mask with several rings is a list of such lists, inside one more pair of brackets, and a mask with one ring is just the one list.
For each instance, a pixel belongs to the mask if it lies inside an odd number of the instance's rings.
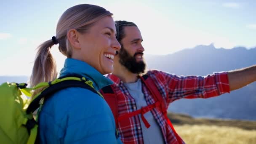
{"label": "neon green main body of the woman's backpack, without strap", "polygon": [[[0,141],[2,144],[26,144],[29,134],[22,126],[27,122],[28,99],[15,83],[0,85]],[[35,138],[34,138],[35,139]]]}

